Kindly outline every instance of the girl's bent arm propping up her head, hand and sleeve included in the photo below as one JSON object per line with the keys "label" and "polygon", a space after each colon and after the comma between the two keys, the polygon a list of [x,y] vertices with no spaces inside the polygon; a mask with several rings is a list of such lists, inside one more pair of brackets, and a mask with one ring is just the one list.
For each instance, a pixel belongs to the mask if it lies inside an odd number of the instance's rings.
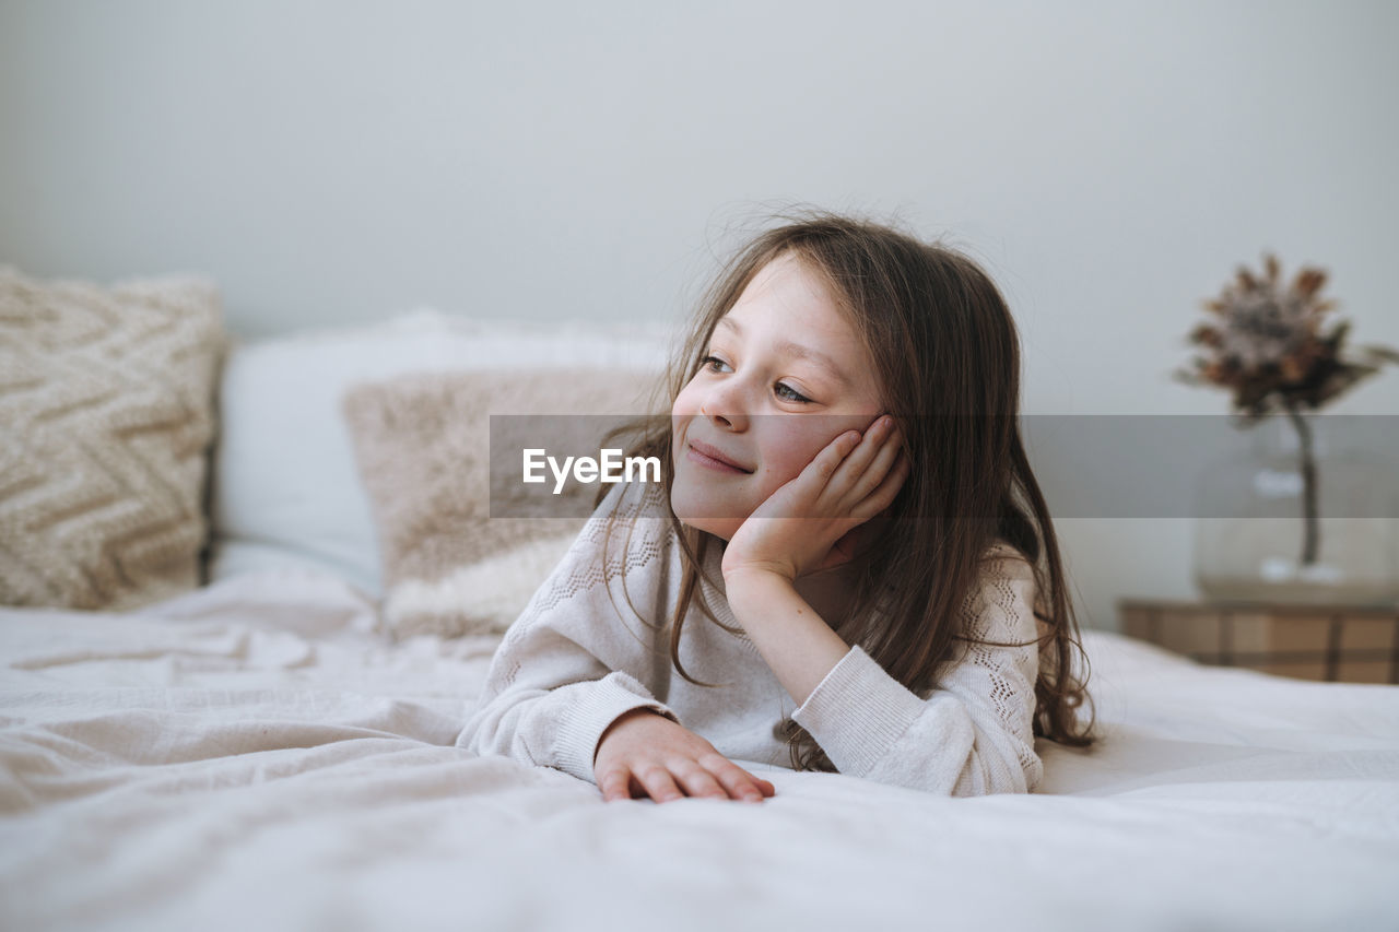
{"label": "girl's bent arm propping up her head, hand and sleeve included", "polygon": [[[778,680],[792,714],[842,774],[956,796],[1034,791],[1039,673],[1034,574],[995,563],[961,631],[1025,647],[972,645],[921,698],[844,641],[793,579],[844,558],[841,542],[887,508],[908,476],[888,418],[837,437],[739,528],[723,554],[729,607]],[[1014,554],[1007,549],[1007,556]],[[946,669],[946,668],[944,668]]]}

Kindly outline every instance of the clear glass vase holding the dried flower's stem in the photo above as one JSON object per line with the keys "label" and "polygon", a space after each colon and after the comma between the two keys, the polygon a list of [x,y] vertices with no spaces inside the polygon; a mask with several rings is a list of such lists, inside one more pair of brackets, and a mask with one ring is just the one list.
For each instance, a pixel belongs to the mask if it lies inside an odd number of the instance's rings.
{"label": "clear glass vase holding the dried flower's stem", "polygon": [[1206,599],[1399,603],[1399,469],[1328,420],[1265,417],[1245,428],[1247,452],[1200,473],[1195,584]]}

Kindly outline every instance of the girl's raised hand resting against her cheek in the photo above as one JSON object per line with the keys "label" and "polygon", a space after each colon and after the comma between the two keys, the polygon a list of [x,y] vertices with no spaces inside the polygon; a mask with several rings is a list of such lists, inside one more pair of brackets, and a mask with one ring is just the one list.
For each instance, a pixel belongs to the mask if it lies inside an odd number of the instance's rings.
{"label": "girl's raised hand resting against her cheek", "polygon": [[846,431],[768,495],[723,551],[723,575],[750,570],[796,579],[855,556],[856,528],[888,508],[908,479],[894,418]]}

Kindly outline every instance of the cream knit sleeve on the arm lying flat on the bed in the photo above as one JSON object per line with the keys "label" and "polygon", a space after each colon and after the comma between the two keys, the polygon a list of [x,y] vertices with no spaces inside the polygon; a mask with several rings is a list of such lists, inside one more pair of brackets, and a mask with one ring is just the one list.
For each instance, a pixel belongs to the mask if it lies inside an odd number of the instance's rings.
{"label": "cream knit sleeve on the arm lying flat on the bed", "polygon": [[[618,484],[603,500],[506,631],[459,747],[596,782],[597,740],[617,718],[652,708],[680,721],[652,693],[655,638],[628,609],[628,598],[638,607],[665,598],[666,529],[655,493],[628,488]],[[614,509],[618,523],[604,546]]]}

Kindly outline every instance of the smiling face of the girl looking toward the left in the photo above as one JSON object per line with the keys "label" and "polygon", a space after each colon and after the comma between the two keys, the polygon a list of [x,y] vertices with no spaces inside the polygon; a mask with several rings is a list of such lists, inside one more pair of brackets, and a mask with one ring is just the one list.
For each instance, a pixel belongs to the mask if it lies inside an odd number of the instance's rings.
{"label": "smiling face of the girl looking toward the left", "polygon": [[792,253],[758,270],[705,357],[670,411],[670,505],[725,540],[832,439],[884,413],[869,354]]}

